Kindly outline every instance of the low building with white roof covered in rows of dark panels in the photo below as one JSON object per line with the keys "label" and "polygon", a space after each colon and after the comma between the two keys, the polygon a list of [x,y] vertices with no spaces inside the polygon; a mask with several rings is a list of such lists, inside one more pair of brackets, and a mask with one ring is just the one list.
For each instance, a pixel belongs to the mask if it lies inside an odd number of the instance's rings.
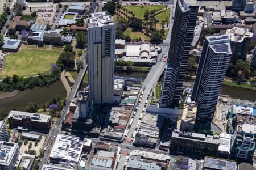
{"label": "low building with white roof covered in rows of dark panels", "polygon": [[51,162],[79,163],[84,143],[78,137],[57,135],[49,158]]}

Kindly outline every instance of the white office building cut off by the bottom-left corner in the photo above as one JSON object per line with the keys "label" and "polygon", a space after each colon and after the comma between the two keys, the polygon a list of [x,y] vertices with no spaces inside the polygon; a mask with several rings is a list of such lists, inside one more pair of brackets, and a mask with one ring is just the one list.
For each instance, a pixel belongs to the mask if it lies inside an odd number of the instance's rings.
{"label": "white office building cut off by the bottom-left corner", "polygon": [[0,169],[13,170],[19,156],[18,143],[0,141]]}

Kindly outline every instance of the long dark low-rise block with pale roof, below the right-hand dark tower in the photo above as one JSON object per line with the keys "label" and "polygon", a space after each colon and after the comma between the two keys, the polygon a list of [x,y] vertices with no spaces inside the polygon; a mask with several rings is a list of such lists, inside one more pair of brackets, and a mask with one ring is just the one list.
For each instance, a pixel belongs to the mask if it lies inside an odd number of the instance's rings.
{"label": "long dark low-rise block with pale roof, below the right-hand dark tower", "polygon": [[183,152],[200,152],[203,155],[217,155],[220,137],[199,133],[174,130],[171,137],[171,148]]}

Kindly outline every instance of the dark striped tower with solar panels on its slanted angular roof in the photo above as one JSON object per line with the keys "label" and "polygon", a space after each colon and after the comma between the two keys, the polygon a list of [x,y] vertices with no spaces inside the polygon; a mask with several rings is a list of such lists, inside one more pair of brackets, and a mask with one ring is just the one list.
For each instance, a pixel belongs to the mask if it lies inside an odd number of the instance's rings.
{"label": "dark striped tower with solar panels on its slanted angular roof", "polygon": [[230,57],[230,35],[205,37],[191,95],[198,119],[212,120]]}

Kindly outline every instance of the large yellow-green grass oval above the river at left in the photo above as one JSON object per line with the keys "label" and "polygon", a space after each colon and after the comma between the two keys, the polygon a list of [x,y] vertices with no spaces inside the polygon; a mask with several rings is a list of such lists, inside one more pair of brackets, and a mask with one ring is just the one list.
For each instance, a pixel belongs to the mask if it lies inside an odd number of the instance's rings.
{"label": "large yellow-green grass oval above the river at left", "polygon": [[3,69],[0,71],[0,79],[6,75],[30,76],[44,73],[51,69],[51,64],[57,61],[62,48],[37,48],[25,46],[18,53],[5,56]]}

